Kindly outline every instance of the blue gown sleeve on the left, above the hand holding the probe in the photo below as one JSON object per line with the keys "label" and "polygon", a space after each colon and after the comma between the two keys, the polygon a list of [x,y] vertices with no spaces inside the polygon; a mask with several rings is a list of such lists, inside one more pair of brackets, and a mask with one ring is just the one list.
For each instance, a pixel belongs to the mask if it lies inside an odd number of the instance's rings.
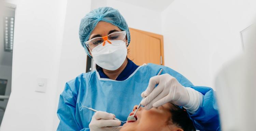
{"label": "blue gown sleeve on the left, above the hand holding the probe", "polygon": [[75,119],[76,97],[73,95],[68,83],[60,94],[57,115],[60,123],[57,131],[90,131],[89,128],[81,128]]}

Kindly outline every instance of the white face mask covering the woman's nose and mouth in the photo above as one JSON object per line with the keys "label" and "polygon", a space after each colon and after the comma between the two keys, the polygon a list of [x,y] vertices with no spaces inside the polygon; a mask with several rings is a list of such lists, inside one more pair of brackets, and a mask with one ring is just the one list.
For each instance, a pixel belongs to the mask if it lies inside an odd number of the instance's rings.
{"label": "white face mask covering the woman's nose and mouth", "polygon": [[110,40],[96,46],[91,54],[95,63],[103,69],[114,71],[122,66],[127,56],[126,44],[123,40]]}

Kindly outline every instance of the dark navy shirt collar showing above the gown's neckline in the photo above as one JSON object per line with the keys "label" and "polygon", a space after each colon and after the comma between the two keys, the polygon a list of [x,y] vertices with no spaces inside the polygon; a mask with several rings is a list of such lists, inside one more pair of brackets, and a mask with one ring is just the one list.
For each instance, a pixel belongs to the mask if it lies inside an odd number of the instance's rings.
{"label": "dark navy shirt collar showing above the gown's neckline", "polygon": [[[133,63],[131,60],[127,59],[128,63],[125,67],[125,69],[119,74],[119,76],[116,78],[117,81],[123,81],[126,80],[139,66],[137,66],[135,63]],[[102,71],[102,68],[99,70],[100,78],[109,78],[104,74]]]}

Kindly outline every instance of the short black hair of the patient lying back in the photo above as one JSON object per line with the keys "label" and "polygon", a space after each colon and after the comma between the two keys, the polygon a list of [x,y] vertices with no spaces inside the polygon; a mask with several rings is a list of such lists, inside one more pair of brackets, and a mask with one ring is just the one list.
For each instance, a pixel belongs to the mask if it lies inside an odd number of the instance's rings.
{"label": "short black hair of the patient lying back", "polygon": [[184,108],[180,108],[179,106],[172,104],[170,112],[171,118],[169,121],[171,121],[172,124],[184,131],[196,131],[192,120],[189,118],[188,113]]}

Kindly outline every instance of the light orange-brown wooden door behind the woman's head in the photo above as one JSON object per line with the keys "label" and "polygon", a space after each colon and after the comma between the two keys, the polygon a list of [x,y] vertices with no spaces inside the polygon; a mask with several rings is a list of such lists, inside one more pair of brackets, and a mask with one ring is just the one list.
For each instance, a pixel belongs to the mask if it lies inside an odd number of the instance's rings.
{"label": "light orange-brown wooden door behind the woman's head", "polygon": [[128,58],[139,66],[144,63],[163,65],[163,36],[132,28],[129,30]]}

